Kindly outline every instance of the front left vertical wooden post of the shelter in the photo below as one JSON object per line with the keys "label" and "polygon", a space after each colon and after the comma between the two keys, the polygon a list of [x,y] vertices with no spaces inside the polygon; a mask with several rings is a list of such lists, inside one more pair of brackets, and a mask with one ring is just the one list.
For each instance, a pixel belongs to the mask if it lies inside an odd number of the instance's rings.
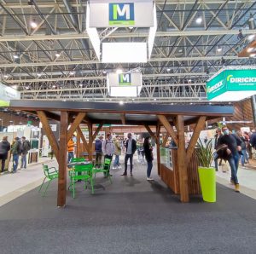
{"label": "front left vertical wooden post of the shelter", "polygon": [[60,152],[59,152],[59,179],[58,179],[58,206],[66,205],[67,192],[67,126],[68,113],[61,111]]}

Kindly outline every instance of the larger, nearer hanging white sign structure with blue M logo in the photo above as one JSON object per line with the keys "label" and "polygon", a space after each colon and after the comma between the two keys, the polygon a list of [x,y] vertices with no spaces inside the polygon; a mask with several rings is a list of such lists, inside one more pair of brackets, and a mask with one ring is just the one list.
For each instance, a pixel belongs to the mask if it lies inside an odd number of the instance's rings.
{"label": "larger, nearer hanging white sign structure with blue M logo", "polygon": [[[86,11],[86,32],[98,60],[103,63],[137,63],[150,59],[157,29],[156,8],[152,0],[90,0]],[[129,38],[122,38],[122,32],[119,32],[121,42],[105,42],[119,27],[131,30],[134,27],[148,28],[146,41],[131,42]],[[100,33],[97,28],[101,29]]]}

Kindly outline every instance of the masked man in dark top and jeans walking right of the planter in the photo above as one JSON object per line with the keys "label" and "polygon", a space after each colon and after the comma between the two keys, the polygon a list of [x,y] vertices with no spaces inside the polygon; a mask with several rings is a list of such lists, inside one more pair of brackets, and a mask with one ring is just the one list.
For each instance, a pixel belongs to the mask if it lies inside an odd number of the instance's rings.
{"label": "masked man in dark top and jeans walking right of the planter", "polygon": [[222,127],[224,136],[219,138],[219,144],[227,145],[226,153],[228,154],[228,161],[231,169],[230,183],[235,184],[235,190],[239,193],[239,182],[237,178],[237,170],[239,165],[239,151],[241,151],[241,139],[238,136],[230,133],[226,125]]}

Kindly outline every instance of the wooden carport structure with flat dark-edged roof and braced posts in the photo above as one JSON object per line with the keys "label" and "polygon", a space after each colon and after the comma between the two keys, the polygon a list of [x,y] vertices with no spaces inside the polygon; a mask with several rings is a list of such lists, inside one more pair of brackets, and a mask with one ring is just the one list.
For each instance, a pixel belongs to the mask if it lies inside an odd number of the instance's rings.
{"label": "wooden carport structure with flat dark-edged roof and braced posts", "polygon": [[[59,164],[57,205],[66,205],[67,194],[67,141],[77,131],[78,141],[83,141],[84,150],[92,158],[92,144],[103,124],[133,124],[144,125],[148,133],[154,137],[157,144],[157,165],[160,175],[160,127],[164,126],[167,137],[171,136],[177,144],[177,169],[179,173],[180,200],[189,202],[187,165],[194,152],[196,141],[205,122],[212,118],[226,117],[233,114],[232,106],[210,105],[166,105],[151,103],[119,103],[108,102],[82,102],[82,101],[11,101],[10,108],[26,113],[37,114],[40,118],[50,146],[53,148]],[[49,119],[60,122],[60,141],[55,140],[49,126]],[[87,124],[89,141],[85,140],[79,124]],[[98,127],[93,133],[93,124]],[[194,134],[185,147],[184,126],[196,124]],[[68,129],[68,126],[70,128]],[[156,132],[151,130],[156,127]],[[173,126],[176,127],[175,131]]]}

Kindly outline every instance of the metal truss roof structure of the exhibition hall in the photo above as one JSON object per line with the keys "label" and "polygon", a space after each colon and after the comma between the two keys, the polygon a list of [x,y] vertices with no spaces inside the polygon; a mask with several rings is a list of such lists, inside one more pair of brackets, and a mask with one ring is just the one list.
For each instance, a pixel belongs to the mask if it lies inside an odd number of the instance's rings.
{"label": "metal truss roof structure of the exhibition hall", "polygon": [[[206,101],[207,78],[222,66],[256,64],[238,57],[256,34],[254,0],[155,3],[151,59],[119,65],[96,60],[85,29],[87,1],[0,0],[1,82],[16,85],[24,99],[119,101],[108,96],[106,72],[140,68],[143,89],[134,102],[199,102]],[[100,32],[103,42],[143,42],[147,33],[132,27]]]}

